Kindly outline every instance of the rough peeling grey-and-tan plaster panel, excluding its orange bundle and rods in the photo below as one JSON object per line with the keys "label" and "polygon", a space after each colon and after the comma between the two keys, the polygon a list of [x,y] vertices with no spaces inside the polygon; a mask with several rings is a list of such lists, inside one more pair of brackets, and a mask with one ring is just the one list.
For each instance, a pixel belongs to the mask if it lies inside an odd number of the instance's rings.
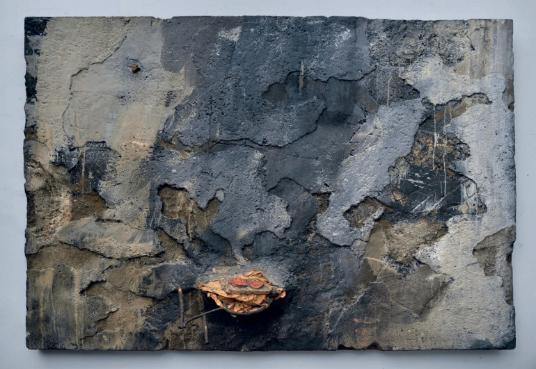
{"label": "rough peeling grey-and-tan plaster panel, excluding its orange bundle and rods", "polygon": [[[26,345],[515,347],[512,22],[26,18]],[[261,270],[249,316],[199,285]]]}

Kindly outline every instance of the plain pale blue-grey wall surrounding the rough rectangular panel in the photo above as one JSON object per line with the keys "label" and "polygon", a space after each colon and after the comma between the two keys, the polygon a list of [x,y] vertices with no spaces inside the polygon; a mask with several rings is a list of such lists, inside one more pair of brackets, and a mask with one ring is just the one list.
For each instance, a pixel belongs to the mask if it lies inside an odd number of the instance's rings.
{"label": "plain pale blue-grey wall surrounding the rough rectangular panel", "polygon": [[[24,17],[358,15],[514,19],[517,241],[513,351],[38,352],[25,345]],[[536,368],[536,0],[0,0],[0,368]],[[533,111],[533,113],[531,113]]]}

